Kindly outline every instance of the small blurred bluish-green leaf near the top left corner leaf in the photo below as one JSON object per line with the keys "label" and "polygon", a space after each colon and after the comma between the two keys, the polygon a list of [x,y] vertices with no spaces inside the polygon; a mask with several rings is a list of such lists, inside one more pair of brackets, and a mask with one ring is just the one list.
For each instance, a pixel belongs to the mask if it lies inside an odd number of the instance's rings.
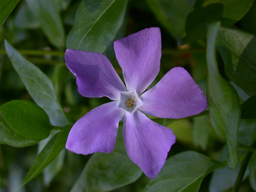
{"label": "small blurred bluish-green leaf near the top left corner leaf", "polygon": [[24,29],[36,29],[40,27],[39,22],[31,16],[31,11],[29,10],[26,2],[19,7],[19,10],[15,16],[14,23],[15,26]]}

